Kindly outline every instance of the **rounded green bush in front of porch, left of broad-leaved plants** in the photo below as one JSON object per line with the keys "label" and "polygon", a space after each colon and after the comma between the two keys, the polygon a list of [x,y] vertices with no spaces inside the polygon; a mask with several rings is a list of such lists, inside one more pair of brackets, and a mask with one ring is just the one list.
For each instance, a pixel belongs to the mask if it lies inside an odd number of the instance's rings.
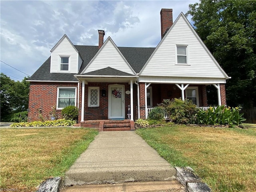
{"label": "rounded green bush in front of porch, left of broad-leaved plants", "polygon": [[196,122],[198,109],[191,100],[167,99],[163,100],[159,106],[165,108],[171,122],[176,124],[193,124]]}

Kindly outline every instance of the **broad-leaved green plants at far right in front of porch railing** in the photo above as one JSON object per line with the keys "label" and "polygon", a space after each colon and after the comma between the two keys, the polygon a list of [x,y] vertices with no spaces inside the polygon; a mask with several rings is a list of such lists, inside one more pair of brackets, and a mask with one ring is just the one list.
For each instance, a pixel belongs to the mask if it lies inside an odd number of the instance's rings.
{"label": "broad-leaved green plants at far right in front of porch railing", "polygon": [[217,106],[216,108],[210,107],[208,110],[200,109],[197,114],[198,124],[205,125],[229,125],[230,127],[234,125],[240,125],[246,119],[240,114],[241,107],[225,107]]}

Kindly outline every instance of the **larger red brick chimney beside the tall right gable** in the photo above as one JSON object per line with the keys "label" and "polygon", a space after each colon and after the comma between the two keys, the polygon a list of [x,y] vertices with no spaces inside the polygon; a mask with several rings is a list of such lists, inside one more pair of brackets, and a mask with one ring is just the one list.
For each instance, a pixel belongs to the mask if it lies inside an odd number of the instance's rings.
{"label": "larger red brick chimney beside the tall right gable", "polygon": [[172,9],[161,9],[161,38],[164,37],[165,32],[172,26]]}

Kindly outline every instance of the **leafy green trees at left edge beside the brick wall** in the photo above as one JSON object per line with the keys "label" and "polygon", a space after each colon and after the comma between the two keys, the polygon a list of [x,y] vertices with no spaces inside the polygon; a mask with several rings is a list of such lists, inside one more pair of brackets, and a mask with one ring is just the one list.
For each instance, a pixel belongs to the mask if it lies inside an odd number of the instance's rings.
{"label": "leafy green trees at left edge beside the brick wall", "polygon": [[28,109],[29,82],[26,82],[27,77],[21,82],[15,82],[3,73],[0,77],[0,115],[1,120],[8,120],[11,114]]}

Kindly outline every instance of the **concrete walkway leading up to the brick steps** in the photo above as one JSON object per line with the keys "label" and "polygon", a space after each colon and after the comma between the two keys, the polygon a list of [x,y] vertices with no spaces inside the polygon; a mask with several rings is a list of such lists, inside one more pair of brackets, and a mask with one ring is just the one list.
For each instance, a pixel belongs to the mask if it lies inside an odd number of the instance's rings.
{"label": "concrete walkway leading up to the brick steps", "polygon": [[134,131],[100,132],[66,172],[64,186],[175,180],[176,169]]}

